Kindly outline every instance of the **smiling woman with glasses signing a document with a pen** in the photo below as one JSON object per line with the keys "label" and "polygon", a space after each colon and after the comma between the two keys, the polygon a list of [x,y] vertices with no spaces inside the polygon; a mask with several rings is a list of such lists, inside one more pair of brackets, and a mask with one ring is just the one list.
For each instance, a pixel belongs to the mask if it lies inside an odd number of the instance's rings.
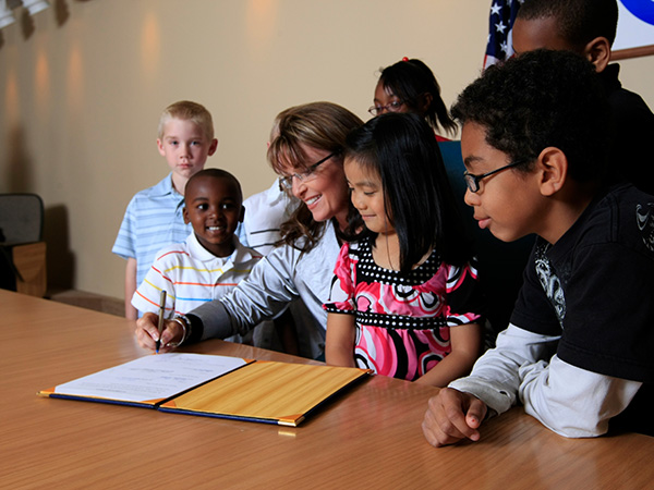
{"label": "smiling woman with glasses signing a document with a pen", "polygon": [[302,203],[282,225],[282,243],[258,262],[228,296],[168,320],[159,336],[157,316],[145,314],[136,339],[146,348],[168,352],[182,343],[245,333],[281,314],[300,298],[313,317],[302,326],[311,344],[305,353],[322,358],[325,350],[329,279],[353,208],[343,173],[348,133],[363,122],[330,102],[313,102],[281,112],[279,134],[268,160],[280,185]]}

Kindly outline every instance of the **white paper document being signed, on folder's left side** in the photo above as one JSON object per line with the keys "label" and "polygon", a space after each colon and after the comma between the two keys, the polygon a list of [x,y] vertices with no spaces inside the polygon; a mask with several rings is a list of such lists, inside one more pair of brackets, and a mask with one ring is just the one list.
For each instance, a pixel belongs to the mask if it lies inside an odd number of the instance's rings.
{"label": "white paper document being signed, on folder's left side", "polygon": [[168,399],[247,364],[239,357],[157,354],[60,384],[55,393],[147,402]]}

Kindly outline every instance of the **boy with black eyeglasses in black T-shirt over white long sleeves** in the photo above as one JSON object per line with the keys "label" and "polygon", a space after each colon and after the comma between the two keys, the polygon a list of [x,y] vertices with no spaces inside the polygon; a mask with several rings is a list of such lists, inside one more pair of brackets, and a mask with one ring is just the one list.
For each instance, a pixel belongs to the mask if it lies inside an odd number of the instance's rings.
{"label": "boy with black eyeglasses in black T-shirt over white long sleeves", "polygon": [[654,434],[654,197],[605,184],[609,108],[593,64],[522,54],[488,69],[452,114],[479,225],[538,237],[496,348],[429,400],[427,441],[476,441],[518,402],[566,437]]}

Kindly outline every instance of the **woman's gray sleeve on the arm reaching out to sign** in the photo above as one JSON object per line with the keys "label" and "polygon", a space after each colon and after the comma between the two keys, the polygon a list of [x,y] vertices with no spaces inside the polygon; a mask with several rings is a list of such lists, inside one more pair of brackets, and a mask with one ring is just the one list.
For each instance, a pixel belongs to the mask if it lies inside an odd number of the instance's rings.
{"label": "woman's gray sleeve on the arm reaching out to sign", "polygon": [[299,254],[287,245],[274,249],[230,294],[191,311],[203,322],[202,340],[243,335],[281,314],[298,297],[293,278]]}

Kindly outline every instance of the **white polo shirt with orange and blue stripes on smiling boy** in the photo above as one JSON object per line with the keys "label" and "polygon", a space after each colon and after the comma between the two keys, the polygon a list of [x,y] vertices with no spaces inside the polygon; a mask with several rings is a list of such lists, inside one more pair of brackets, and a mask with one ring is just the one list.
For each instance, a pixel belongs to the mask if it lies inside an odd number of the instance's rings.
{"label": "white polo shirt with orange and blue stripes on smiling boy", "polygon": [[[216,257],[191,233],[184,243],[162,248],[134,293],[132,305],[142,313],[157,313],[161,290],[166,290],[166,318],[172,318],[221,298],[262,259],[261,254],[241,245],[235,236],[234,247],[231,256]],[[226,340],[252,343],[252,335]],[[257,342],[257,346],[265,345]]]}

